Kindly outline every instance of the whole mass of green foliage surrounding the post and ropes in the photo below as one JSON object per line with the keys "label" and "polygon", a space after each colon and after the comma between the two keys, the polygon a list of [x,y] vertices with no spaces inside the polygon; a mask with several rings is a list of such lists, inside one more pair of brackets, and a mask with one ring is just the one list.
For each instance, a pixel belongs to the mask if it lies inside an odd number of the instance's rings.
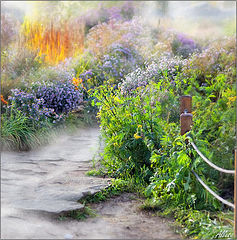
{"label": "whole mass of green foliage surrounding the post and ropes", "polygon": [[231,228],[217,223],[213,215],[223,206],[200,185],[191,170],[230,201],[233,176],[223,176],[203,162],[186,143],[186,136],[180,136],[179,122],[179,96],[190,94],[190,134],[196,145],[216,165],[234,168],[235,54],[231,41],[225,44],[224,49],[215,46],[194,54],[174,79],[167,75],[158,83],[150,82],[126,94],[119,87],[100,86],[90,95],[99,108],[105,139],[102,164],[108,175],[133,179],[143,186],[152,202],[144,209],[173,211],[186,236],[218,238],[218,231],[232,234]]}

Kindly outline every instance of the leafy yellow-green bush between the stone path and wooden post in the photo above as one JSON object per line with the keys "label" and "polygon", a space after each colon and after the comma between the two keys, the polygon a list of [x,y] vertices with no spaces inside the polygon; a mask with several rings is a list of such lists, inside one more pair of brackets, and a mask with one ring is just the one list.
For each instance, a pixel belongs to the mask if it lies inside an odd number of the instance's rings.
{"label": "leafy yellow-green bush between the stone path and wooden post", "polygon": [[[139,90],[138,90],[139,91]],[[165,120],[175,118],[177,98],[159,84],[152,84],[137,96],[123,96],[113,87],[101,86],[92,96],[100,108],[102,134],[106,141],[104,164],[115,177],[136,176],[148,182],[152,176],[151,145],[159,148]],[[160,99],[160,101],[155,101]],[[167,106],[169,111],[165,110]],[[164,120],[165,119],[165,120]]]}

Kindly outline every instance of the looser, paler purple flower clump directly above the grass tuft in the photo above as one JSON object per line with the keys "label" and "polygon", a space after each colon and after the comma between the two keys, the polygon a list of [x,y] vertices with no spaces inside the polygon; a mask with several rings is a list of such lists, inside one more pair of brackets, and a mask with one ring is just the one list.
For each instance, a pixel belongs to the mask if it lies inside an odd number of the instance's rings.
{"label": "looser, paler purple flower clump directly above the grass tuft", "polygon": [[60,121],[63,116],[55,113],[54,109],[44,106],[44,99],[37,99],[33,93],[27,93],[19,89],[12,89],[8,98],[11,104],[8,108],[17,109],[34,121],[35,125],[41,126],[47,120]]}

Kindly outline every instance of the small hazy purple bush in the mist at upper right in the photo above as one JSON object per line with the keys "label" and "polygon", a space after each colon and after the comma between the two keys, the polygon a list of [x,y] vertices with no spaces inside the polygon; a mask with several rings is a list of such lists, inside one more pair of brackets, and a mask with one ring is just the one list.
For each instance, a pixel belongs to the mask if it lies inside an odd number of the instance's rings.
{"label": "small hazy purple bush in the mist at upper right", "polygon": [[188,58],[194,52],[201,50],[200,46],[193,39],[188,38],[184,34],[176,35],[171,43],[171,47],[175,55],[182,56],[183,58]]}

